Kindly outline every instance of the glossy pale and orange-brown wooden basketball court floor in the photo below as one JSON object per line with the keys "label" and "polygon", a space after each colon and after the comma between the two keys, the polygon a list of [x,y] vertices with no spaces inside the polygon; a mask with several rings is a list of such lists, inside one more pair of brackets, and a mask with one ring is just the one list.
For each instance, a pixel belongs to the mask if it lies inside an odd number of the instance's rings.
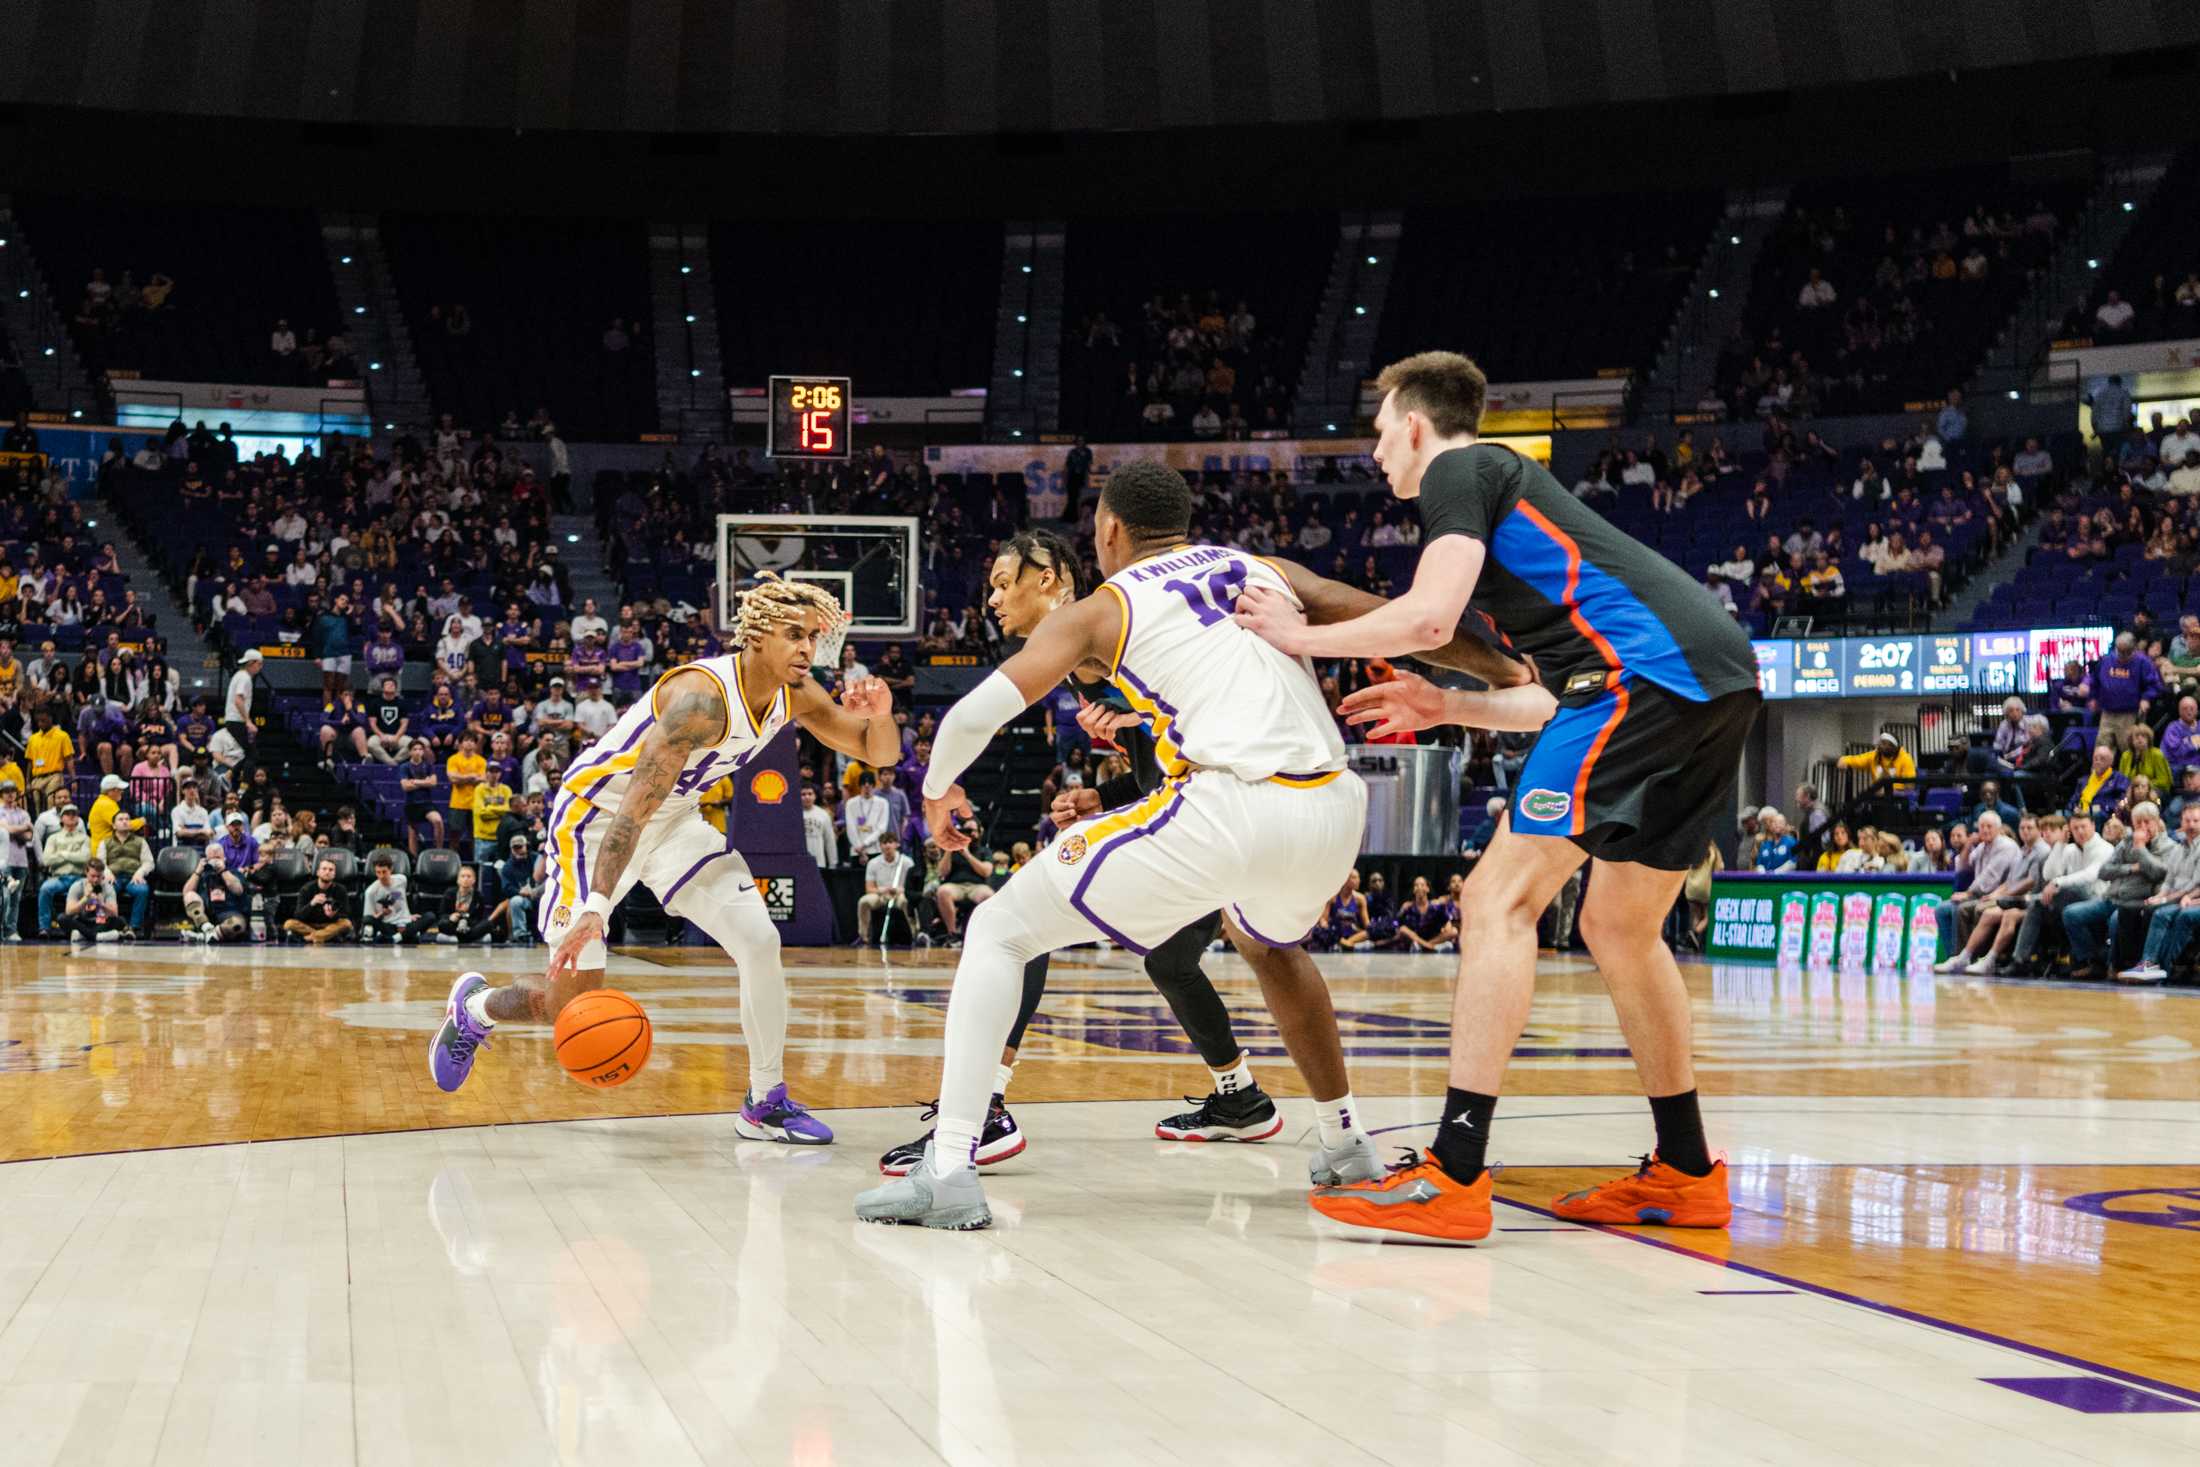
{"label": "glossy pale and orange-brown wooden basketball court floor", "polygon": [[[1069,959],[999,1225],[946,1236],[847,1203],[917,1128],[948,966],[790,959],[823,1152],[733,1135],[735,974],[697,950],[614,959],[658,1027],[634,1084],[508,1032],[455,1098],[422,1060],[447,952],[0,957],[0,1460],[2200,1454],[2196,999],[1690,970],[1736,1223],[1617,1234],[1540,1212],[1648,1146],[1602,985],[1547,959],[1511,1205],[1434,1249],[1320,1232],[1302,1108],[1155,1141],[1206,1071],[1135,968]],[[1448,961],[1324,970],[1373,1124],[1426,1137]]]}

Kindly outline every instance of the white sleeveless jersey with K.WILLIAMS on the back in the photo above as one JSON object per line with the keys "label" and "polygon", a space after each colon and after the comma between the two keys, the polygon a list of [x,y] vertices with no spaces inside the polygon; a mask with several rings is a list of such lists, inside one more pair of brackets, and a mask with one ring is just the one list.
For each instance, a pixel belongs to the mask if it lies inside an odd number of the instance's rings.
{"label": "white sleeveless jersey with K.WILLIAMS on the back", "polygon": [[1247,585],[1298,600],[1280,570],[1223,545],[1181,545],[1109,576],[1102,592],[1124,611],[1115,686],[1153,724],[1168,774],[1228,770],[1263,781],[1342,770],[1344,739],[1313,664],[1232,618]]}

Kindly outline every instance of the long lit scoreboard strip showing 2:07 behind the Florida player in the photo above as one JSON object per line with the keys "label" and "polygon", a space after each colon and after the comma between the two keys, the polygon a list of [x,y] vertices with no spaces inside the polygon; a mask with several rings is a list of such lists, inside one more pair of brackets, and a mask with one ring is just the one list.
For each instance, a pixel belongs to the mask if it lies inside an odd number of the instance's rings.
{"label": "long lit scoreboard strip showing 2:07 behind the Florida player", "polygon": [[2108,627],[1936,631],[1929,636],[1760,638],[1764,697],[1912,697],[1918,693],[2046,693],[2068,660],[2092,666]]}

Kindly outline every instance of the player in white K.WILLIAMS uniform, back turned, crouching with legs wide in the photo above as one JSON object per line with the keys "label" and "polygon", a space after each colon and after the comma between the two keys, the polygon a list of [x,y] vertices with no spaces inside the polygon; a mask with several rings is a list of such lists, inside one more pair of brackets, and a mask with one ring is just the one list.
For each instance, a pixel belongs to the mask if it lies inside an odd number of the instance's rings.
{"label": "player in white K.WILLIAMS uniform, back turned, crouching with legs wide", "polygon": [[[1298,944],[1360,853],[1366,787],[1313,671],[1230,620],[1247,585],[1294,605],[1320,596],[1302,567],[1188,541],[1192,493],[1153,462],[1100,490],[1093,541],[1109,581],[1045,616],[933,739],[924,818],[948,849],[968,845],[957,779],[994,732],[1085,664],[1153,719],[1168,779],[1151,796],[1078,820],[970,917],[948,999],[939,1124],[906,1177],[856,1199],[856,1216],[924,1227],[986,1227],[992,1212],[972,1152],[992,1067],[1016,1018],[1023,966],[1107,937],[1148,952],[1221,908],[1267,955],[1254,966],[1320,1133],[1309,1172],[1377,1177],[1344,1076],[1335,1012]],[[1445,638],[1437,638],[1443,642]]]}

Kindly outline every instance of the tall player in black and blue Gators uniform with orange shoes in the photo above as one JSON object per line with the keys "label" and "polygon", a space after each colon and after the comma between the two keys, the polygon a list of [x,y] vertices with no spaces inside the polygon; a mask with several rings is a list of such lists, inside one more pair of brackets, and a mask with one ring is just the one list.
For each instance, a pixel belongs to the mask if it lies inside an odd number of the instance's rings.
{"label": "tall player in black and blue Gators uniform with orange shoes", "polygon": [[1536,990],[1536,917],[1584,862],[1580,930],[1619,1010],[1657,1124],[1632,1177],[1553,1205],[1591,1223],[1725,1227],[1727,1168],[1696,1106],[1690,1005],[1661,926],[1703,853],[1758,713],[1749,638],[1679,565],[1582,506],[1540,464],[1476,440],[1487,383],[1456,352],[1377,378],[1375,462],[1421,512],[1412,587],[1366,616],[1309,627],[1254,589],[1239,620],[1278,649],[1377,658],[1443,642],[1470,605],[1529,655],[1540,682],[1456,693],[1401,673],[1344,710],[1375,732],[1434,724],[1540,730],[1511,809],[1459,904],[1459,988],[1443,1119],[1410,1166],[1320,1188],[1351,1227],[1472,1240],[1489,1234],[1489,1119]]}

